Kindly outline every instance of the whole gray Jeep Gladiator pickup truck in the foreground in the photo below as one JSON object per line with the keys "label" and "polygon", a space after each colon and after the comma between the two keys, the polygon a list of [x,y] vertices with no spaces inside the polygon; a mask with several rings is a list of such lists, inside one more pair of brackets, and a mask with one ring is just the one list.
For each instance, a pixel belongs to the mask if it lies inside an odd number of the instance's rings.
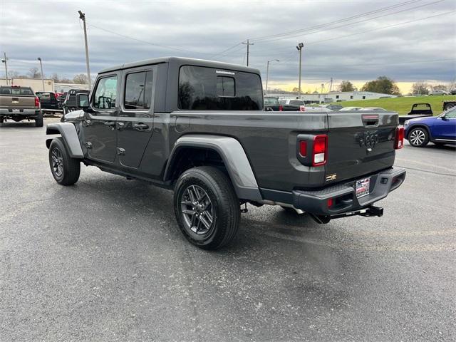
{"label": "whole gray Jeep Gladiator pickup truck in the foreground", "polygon": [[[264,110],[260,73],[227,63],[157,58],[107,68],[83,108],[47,126],[51,172],[73,185],[80,165],[174,190],[185,237],[217,249],[246,203],[308,212],[319,223],[378,216],[397,189],[403,128],[392,112]],[[247,208],[247,206],[246,206]]]}

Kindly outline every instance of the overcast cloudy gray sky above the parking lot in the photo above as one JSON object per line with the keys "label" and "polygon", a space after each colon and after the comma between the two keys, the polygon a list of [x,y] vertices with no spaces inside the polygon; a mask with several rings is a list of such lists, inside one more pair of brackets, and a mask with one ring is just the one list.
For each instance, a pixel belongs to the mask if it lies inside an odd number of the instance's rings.
{"label": "overcast cloudy gray sky above the parking lot", "polygon": [[[455,0],[0,0],[0,51],[9,69],[26,73],[39,66],[39,56],[46,76],[85,73],[78,9],[87,17],[93,76],[159,56],[245,64],[241,43],[249,38],[250,66],[265,79],[266,61],[279,59],[270,64],[269,80],[281,88],[297,86],[301,41],[308,87],[331,77],[359,83],[385,75],[404,84],[456,77]],[[288,34],[275,36],[281,33]]]}

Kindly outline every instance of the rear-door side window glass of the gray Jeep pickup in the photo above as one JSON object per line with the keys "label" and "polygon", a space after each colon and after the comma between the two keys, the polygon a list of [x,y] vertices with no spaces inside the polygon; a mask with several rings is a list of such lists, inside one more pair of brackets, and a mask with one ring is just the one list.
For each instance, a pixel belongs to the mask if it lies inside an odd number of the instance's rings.
{"label": "rear-door side window glass of the gray Jeep pickup", "polygon": [[147,110],[152,100],[152,71],[129,73],[125,79],[125,109]]}

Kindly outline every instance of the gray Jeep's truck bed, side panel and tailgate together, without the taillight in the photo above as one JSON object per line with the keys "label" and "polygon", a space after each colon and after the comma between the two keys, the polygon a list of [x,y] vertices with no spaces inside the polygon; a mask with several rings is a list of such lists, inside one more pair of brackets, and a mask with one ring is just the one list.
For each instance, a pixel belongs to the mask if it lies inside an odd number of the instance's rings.
{"label": "gray Jeep's truck bed, side panel and tailgate together, without the taillight", "polygon": [[[326,187],[392,167],[395,158],[398,114],[393,112],[182,110],[171,113],[169,123],[166,119],[169,114],[155,115],[155,133],[149,147],[166,141],[162,136],[168,131],[164,125],[172,128],[169,130],[172,133],[168,152],[182,135],[211,133],[231,136],[244,147],[259,187],[264,189],[291,192]],[[298,160],[297,141],[303,134],[328,135],[326,165],[308,167]],[[366,138],[371,137],[375,146],[368,152]],[[162,157],[164,160],[167,158],[165,155]]]}

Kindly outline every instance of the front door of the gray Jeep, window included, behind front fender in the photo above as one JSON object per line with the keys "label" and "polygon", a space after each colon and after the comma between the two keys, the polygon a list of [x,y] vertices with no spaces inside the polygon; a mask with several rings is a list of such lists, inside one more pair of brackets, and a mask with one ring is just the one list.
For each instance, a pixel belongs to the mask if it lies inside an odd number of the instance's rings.
{"label": "front door of the gray Jeep, window included, behind front fender", "polygon": [[90,159],[114,162],[118,116],[118,75],[98,78],[90,99],[90,110],[85,113],[84,135]]}

